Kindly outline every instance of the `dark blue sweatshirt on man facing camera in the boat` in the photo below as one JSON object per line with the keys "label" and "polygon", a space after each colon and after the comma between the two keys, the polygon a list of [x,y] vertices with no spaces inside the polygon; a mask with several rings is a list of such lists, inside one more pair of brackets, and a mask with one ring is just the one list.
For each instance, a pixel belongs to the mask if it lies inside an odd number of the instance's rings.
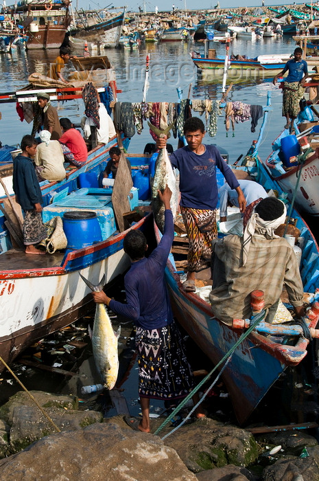
{"label": "dark blue sweatshirt on man facing camera in the boat", "polygon": [[172,166],[180,171],[180,205],[214,210],[218,201],[216,167],[232,189],[239,187],[239,183],[219,150],[213,145],[204,147],[202,155],[194,153],[188,146],[178,148],[169,159]]}

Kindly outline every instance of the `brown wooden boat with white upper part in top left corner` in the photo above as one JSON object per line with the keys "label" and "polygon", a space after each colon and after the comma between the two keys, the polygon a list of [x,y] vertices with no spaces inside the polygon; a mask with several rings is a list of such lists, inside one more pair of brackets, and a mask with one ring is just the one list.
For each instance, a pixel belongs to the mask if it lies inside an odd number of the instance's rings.
{"label": "brown wooden boat with white upper part in top left corner", "polygon": [[59,48],[71,23],[69,0],[20,0],[8,8],[19,15],[28,36],[27,49]]}

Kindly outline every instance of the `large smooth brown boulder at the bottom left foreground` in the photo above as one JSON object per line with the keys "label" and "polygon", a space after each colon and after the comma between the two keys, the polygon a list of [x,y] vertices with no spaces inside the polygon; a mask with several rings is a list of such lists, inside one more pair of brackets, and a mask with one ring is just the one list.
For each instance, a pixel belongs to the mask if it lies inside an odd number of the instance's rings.
{"label": "large smooth brown boulder at the bottom left foreground", "polygon": [[99,423],[51,434],[0,460],[0,481],[197,481],[158,436]]}

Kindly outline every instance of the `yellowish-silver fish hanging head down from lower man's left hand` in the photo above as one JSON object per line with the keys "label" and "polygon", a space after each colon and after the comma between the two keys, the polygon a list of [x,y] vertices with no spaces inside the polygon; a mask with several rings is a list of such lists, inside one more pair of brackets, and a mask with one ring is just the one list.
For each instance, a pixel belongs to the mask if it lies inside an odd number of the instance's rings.
{"label": "yellowish-silver fish hanging head down from lower man's left hand", "polygon": [[[105,276],[97,286],[91,284],[80,274],[86,285],[94,292],[102,291]],[[119,357],[117,355],[117,342],[121,333],[121,326],[117,333],[113,331],[110,317],[104,304],[96,304],[95,318],[92,333],[93,356],[97,370],[108,390],[114,388],[119,372]]]}

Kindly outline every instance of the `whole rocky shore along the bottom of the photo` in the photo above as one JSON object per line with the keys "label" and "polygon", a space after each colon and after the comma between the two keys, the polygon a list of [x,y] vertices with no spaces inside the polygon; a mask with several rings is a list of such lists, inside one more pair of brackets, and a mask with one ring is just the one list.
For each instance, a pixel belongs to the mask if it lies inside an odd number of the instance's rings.
{"label": "whole rocky shore along the bottom of the photo", "polygon": [[162,439],[172,425],[154,436],[76,396],[31,394],[49,419],[25,392],[0,407],[0,481],[319,481],[318,442],[304,431],[252,436],[207,417]]}

